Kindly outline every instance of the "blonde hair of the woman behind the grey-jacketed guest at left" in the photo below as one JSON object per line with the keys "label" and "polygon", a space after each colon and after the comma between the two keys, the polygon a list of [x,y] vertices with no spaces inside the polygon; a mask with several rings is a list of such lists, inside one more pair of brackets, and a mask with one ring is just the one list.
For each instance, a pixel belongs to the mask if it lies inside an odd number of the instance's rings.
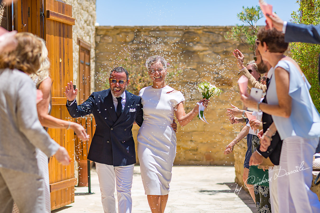
{"label": "blonde hair of the woman behind the grey-jacketed guest at left", "polygon": [[40,68],[36,73],[32,73],[30,75],[33,82],[36,83],[36,87],[40,85],[40,83],[49,77],[49,69],[50,69],[50,61],[48,58],[48,50],[45,41],[42,38],[37,37],[37,40],[41,42],[42,50],[41,56],[39,58]]}

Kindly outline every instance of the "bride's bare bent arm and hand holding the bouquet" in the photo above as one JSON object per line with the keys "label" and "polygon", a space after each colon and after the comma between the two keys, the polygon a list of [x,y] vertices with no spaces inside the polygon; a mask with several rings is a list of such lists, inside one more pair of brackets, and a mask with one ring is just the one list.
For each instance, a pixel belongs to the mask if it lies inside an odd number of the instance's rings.
{"label": "bride's bare bent arm and hand holding the bouquet", "polygon": [[[201,99],[199,103],[203,102],[204,108],[207,108],[209,100]],[[175,107],[175,114],[177,121],[181,126],[186,126],[198,113],[199,105],[196,104],[196,106],[188,113],[186,114],[186,111],[184,110],[183,103],[179,103]]]}

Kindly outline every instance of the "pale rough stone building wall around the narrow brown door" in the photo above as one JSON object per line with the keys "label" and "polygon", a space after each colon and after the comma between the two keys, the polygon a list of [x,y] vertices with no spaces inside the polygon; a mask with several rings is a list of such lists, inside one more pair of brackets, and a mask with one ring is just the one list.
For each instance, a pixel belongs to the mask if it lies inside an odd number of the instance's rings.
{"label": "pale rough stone building wall around the narrow brown door", "polygon": [[79,45],[78,38],[91,45],[90,69],[91,69],[91,92],[94,91],[95,73],[95,27],[96,22],[96,0],[63,0],[72,6],[72,17],[75,25],[72,26],[73,44],[73,80],[77,82],[79,73]]}

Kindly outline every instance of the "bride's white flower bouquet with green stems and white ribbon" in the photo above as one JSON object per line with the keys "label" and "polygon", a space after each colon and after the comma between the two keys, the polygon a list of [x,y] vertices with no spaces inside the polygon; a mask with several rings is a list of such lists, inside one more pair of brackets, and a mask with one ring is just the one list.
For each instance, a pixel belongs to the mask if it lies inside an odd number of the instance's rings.
{"label": "bride's white flower bouquet with green stems and white ribbon", "polygon": [[[210,84],[207,81],[203,81],[199,84],[198,88],[199,92],[201,92],[202,97],[205,99],[209,99],[211,96],[217,95],[219,96],[222,92],[220,87],[216,87],[215,85]],[[197,103],[199,105],[199,114],[198,118],[203,122],[207,123],[206,119],[204,118],[204,106],[202,103]]]}

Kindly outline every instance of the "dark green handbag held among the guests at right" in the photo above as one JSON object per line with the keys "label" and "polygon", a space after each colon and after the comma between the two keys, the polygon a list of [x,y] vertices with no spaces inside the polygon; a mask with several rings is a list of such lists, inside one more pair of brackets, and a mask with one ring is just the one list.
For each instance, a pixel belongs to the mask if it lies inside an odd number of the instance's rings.
{"label": "dark green handbag held among the guests at right", "polygon": [[247,184],[269,187],[269,171],[258,169],[258,166],[250,166]]}

